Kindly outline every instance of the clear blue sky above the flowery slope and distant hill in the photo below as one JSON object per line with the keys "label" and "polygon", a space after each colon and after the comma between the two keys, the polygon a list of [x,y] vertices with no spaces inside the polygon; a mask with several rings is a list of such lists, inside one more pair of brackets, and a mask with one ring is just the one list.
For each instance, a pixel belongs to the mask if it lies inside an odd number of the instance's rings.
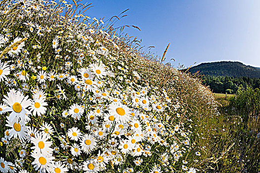
{"label": "clear blue sky above the flowery slope and distant hill", "polygon": [[220,60],[240,61],[260,67],[260,0],[83,0],[94,7],[86,15],[108,19],[125,13],[116,26],[155,46],[166,62],[186,67]]}

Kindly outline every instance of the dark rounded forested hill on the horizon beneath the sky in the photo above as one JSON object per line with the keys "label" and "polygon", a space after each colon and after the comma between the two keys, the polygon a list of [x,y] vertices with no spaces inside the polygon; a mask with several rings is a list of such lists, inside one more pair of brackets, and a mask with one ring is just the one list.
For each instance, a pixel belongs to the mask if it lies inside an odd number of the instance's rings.
{"label": "dark rounded forested hill on the horizon beneath the sky", "polygon": [[209,76],[260,78],[260,68],[245,65],[241,62],[220,61],[202,63],[189,69],[191,73],[198,71],[201,75]]}

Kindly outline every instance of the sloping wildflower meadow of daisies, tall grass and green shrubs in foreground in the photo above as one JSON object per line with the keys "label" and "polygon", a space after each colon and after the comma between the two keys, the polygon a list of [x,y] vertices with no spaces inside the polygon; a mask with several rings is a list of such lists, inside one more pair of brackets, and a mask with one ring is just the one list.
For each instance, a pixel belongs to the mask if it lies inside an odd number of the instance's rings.
{"label": "sloping wildflower meadow of daisies, tall grass and green shrubs in foreground", "polygon": [[1,173],[259,171],[257,90],[214,98],[89,5],[0,1]]}

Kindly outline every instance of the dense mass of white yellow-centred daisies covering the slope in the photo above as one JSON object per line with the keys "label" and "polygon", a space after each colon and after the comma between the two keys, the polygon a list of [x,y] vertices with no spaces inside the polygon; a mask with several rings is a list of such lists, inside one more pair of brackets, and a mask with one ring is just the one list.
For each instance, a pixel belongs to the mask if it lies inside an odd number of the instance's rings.
{"label": "dense mass of white yellow-centred daisies covering the slope", "polygon": [[129,65],[140,59],[102,20],[61,16],[72,6],[0,8],[0,172],[173,173],[178,163],[196,173],[183,157],[191,131],[178,121],[181,104]]}

